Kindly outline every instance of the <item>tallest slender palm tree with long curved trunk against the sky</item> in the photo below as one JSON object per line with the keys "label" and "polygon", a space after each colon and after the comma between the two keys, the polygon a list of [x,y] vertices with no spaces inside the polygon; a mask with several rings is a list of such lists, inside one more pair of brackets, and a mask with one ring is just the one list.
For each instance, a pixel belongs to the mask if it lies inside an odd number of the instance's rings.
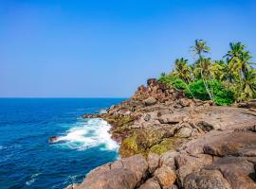
{"label": "tallest slender palm tree with long curved trunk against the sky", "polygon": [[206,78],[203,74],[203,72],[204,72],[203,61],[205,61],[203,54],[207,54],[210,52],[210,46],[208,46],[207,43],[203,40],[195,40],[194,46],[192,46],[191,48],[192,48],[192,52],[194,53],[194,55],[198,55],[197,64],[199,65],[200,75],[201,75],[201,78],[203,79],[207,93],[210,96],[210,100],[213,101],[213,93],[212,92],[210,93],[208,84],[206,82]]}

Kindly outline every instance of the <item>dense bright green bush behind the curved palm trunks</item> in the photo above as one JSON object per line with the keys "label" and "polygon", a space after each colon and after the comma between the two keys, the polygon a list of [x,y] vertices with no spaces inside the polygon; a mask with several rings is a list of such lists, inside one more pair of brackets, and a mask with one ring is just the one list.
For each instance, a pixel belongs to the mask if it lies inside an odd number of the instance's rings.
{"label": "dense bright green bush behind the curved palm trunks", "polygon": [[[225,89],[224,85],[217,80],[210,80],[207,82],[209,89],[213,91],[214,94],[214,103],[220,106],[227,106],[234,102],[234,94],[233,92]],[[204,85],[204,81],[202,79],[198,79],[189,84],[190,90],[193,96],[200,100],[210,100],[210,96],[207,93],[206,87]],[[192,94],[188,90],[186,90],[186,95],[192,97]]]}

